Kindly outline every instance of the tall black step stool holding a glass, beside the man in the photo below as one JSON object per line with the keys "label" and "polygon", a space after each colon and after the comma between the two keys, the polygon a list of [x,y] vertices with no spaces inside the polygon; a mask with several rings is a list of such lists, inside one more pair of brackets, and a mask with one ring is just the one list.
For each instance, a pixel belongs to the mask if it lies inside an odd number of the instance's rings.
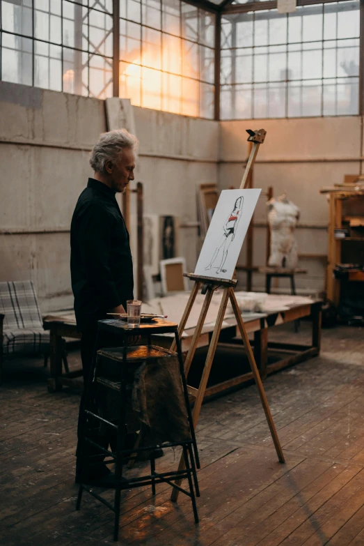
{"label": "tall black step stool holding a glass, beside the man", "polygon": [[[180,344],[180,338],[178,337],[177,324],[172,322],[167,322],[161,319],[152,321],[151,323],[141,324],[139,328],[129,328],[127,324],[120,320],[104,320],[98,322],[97,328],[97,338],[95,340],[95,347],[100,347],[100,338],[102,334],[110,333],[116,335],[118,340],[122,341],[122,347],[120,349],[102,349],[97,352],[93,358],[93,373],[91,374],[90,385],[87,389],[86,400],[85,400],[85,409],[84,409],[84,422],[82,426],[82,437],[81,437],[81,446],[79,453],[79,463],[82,465],[87,465],[95,457],[100,455],[86,455],[84,453],[84,444],[90,443],[97,450],[100,450],[100,453],[103,453],[107,457],[110,457],[107,463],[115,462],[116,469],[116,485],[115,485],[115,496],[113,505],[106,501],[102,496],[95,493],[93,488],[88,487],[88,485],[81,483],[79,486],[79,494],[77,497],[76,509],[79,510],[81,505],[81,497],[84,491],[89,492],[97,500],[104,503],[108,508],[113,510],[115,513],[115,522],[114,522],[114,533],[113,539],[118,540],[118,531],[119,531],[119,519],[120,519],[120,496],[122,490],[127,490],[132,487],[143,487],[145,485],[152,485],[152,495],[155,495],[155,485],[157,483],[168,483],[172,487],[175,487],[177,490],[187,494],[191,498],[193,515],[195,517],[195,522],[198,523],[198,514],[196,508],[196,496],[200,496],[198,490],[198,480],[196,474],[196,464],[200,468],[200,463],[198,460],[198,450],[196,445],[196,437],[193,430],[193,422],[191,416],[191,408],[189,405],[189,395],[187,392],[187,382],[184,375],[184,366],[182,361],[182,350]],[[139,363],[142,360],[148,358],[148,356],[155,358],[156,356],[165,356],[166,352],[171,354],[171,351],[166,351],[166,349],[161,349],[160,347],[152,346],[151,344],[151,335],[158,333],[174,333],[176,347],[177,347],[177,358],[180,367],[180,377],[182,379],[182,389],[184,395],[184,403],[187,410],[187,420],[189,425],[190,439],[185,441],[170,441],[159,444],[158,446],[134,446],[132,449],[125,448],[125,423],[126,423],[126,402],[128,395],[128,386],[130,383],[130,375],[133,371],[133,362],[134,369],[136,362]],[[128,347],[128,338],[134,336],[147,336],[148,344],[147,345],[132,345]],[[103,358],[109,358],[113,362],[114,370],[116,371],[117,377],[113,374],[113,377],[109,379],[108,377],[102,376],[102,370],[99,374],[97,366],[97,355]],[[111,388],[116,390],[120,395],[120,410],[118,416],[118,424],[111,423],[109,420],[98,416],[95,413],[93,407],[93,394],[95,391],[95,385],[100,385],[103,388]],[[130,391],[129,391],[130,392]],[[92,410],[92,411],[91,411]],[[104,426],[113,427],[116,430],[117,437],[117,448],[116,452],[113,452],[109,449],[97,444],[95,441],[90,439],[87,436],[87,421],[95,420],[97,423],[102,423]],[[174,446],[181,446],[184,453],[184,461],[186,468],[184,470],[173,470],[169,472],[157,473],[155,470],[155,458],[153,456],[153,451],[156,448],[168,448]],[[122,463],[127,460],[134,460],[139,453],[150,451],[150,474],[145,476],[139,476],[138,478],[125,478],[122,476]],[[195,464],[196,457],[196,464]],[[187,478],[189,483],[189,490],[184,490],[182,487],[179,487],[172,480],[180,480],[181,478]],[[193,488],[194,485],[194,488]]]}

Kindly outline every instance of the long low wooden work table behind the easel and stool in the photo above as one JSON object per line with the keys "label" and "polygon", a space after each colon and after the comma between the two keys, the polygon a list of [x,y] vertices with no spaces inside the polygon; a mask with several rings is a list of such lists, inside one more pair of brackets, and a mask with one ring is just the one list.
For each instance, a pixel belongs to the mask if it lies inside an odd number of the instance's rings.
{"label": "long low wooden work table behind the easel and stool", "polygon": [[[186,295],[187,297],[188,295]],[[177,298],[181,298],[180,295],[168,296],[168,304],[173,303],[173,298],[177,303]],[[253,333],[254,339],[252,341],[255,360],[260,370],[262,379],[267,377],[267,374],[276,372],[283,367],[287,367],[292,364],[296,364],[312,356],[319,354],[320,341],[321,341],[321,301],[309,300],[308,298],[301,298],[300,296],[290,296],[290,305],[284,305],[281,310],[279,307],[279,296],[267,296],[267,301],[271,303],[275,298],[277,308],[275,310],[269,310],[265,313],[243,313],[244,324],[248,333]],[[164,299],[161,298],[161,302]],[[179,303],[181,301],[179,300]],[[143,310],[146,305],[143,305]],[[271,307],[271,305],[270,305]],[[175,306],[177,309],[177,305]],[[160,310],[159,310],[160,312]],[[167,314],[167,313],[166,313]],[[269,328],[278,326],[279,324],[285,324],[287,322],[294,322],[302,319],[303,317],[311,317],[312,319],[312,342],[310,345],[302,344],[286,344],[278,342],[269,342],[268,333]],[[168,319],[170,317],[168,316]],[[175,317],[171,317],[175,320]],[[63,385],[72,385],[76,381],[81,383],[81,370],[64,374],[62,371],[62,358],[61,347],[62,338],[74,338],[81,339],[81,334],[77,332],[76,321],[74,315],[68,314],[65,316],[52,316],[49,315],[44,319],[44,327],[50,331],[50,372],[51,377],[48,379],[49,392],[55,392],[60,390]],[[198,340],[198,347],[207,347],[211,339],[212,331],[214,329],[214,322],[205,324],[203,332]],[[187,329],[182,335],[182,351],[186,352],[189,349],[189,344],[192,339],[194,328],[187,324]],[[156,337],[155,343],[161,347],[170,347],[171,338],[168,335],[160,335],[158,339]],[[223,328],[219,343],[221,344],[239,344],[239,333],[237,331],[237,322],[233,315],[227,314],[223,321]],[[285,354],[284,358],[281,358],[275,363],[268,363],[268,351],[276,351],[279,354]],[[246,381],[252,379],[251,372],[242,374],[238,377],[233,377],[228,381],[223,381],[221,384],[210,386],[206,390],[206,396],[210,396],[216,393],[226,390],[233,386],[237,386]]]}

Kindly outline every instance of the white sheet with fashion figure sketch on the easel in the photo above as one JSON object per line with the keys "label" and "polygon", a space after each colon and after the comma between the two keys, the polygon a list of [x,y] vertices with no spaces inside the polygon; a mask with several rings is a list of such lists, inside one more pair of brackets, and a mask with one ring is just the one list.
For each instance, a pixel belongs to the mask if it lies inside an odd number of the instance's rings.
{"label": "white sheet with fashion figure sketch on the easel", "polygon": [[261,190],[223,190],[195,274],[232,279]]}

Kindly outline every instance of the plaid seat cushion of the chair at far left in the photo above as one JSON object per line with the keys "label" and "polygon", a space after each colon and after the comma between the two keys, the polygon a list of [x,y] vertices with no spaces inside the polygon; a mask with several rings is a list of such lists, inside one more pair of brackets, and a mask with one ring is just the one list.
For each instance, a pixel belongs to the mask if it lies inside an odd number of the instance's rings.
{"label": "plaid seat cushion of the chair at far left", "polygon": [[32,330],[4,330],[3,354],[40,354],[49,350],[49,332],[43,328]]}

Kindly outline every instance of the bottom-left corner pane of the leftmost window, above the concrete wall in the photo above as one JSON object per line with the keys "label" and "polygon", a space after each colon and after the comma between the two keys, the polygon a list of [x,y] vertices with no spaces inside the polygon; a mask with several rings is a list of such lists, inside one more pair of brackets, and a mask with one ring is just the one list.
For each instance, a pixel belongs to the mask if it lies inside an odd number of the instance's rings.
{"label": "bottom-left corner pane of the leftmost window, above the concrete wall", "polygon": [[33,84],[32,47],[28,38],[2,35],[1,76],[4,82]]}

